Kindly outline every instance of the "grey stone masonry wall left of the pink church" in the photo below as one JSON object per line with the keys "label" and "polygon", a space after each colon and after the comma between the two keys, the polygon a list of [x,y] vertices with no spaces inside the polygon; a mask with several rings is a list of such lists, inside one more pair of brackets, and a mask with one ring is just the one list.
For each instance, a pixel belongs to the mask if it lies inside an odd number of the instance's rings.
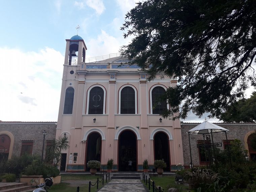
{"label": "grey stone masonry wall left of the pink church", "polygon": [[47,133],[44,141],[44,154],[46,142],[55,139],[57,122],[0,122],[0,131],[9,131],[14,136],[12,156],[20,156],[22,141],[33,141],[32,154],[41,156],[43,145],[43,130]]}

